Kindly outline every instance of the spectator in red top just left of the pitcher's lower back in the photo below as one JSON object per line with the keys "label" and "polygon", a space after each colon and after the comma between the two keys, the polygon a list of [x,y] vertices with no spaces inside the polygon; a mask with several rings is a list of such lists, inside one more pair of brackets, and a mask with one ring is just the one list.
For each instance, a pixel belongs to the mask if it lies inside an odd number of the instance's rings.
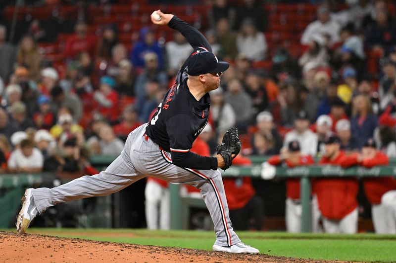
{"label": "spectator in red top just left of the pitcher's lower back", "polygon": [[138,121],[138,114],[136,113],[133,105],[129,105],[125,107],[122,112],[121,123],[113,126],[113,129],[115,135],[125,142],[129,133],[140,125],[142,125],[142,123]]}

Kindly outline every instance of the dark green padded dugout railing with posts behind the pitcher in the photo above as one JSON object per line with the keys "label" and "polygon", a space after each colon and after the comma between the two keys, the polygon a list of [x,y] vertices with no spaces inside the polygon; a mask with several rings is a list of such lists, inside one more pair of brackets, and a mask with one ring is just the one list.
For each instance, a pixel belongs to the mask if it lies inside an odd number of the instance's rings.
{"label": "dark green padded dugout railing with posts behind the pitcher", "polygon": [[[252,165],[249,166],[231,166],[226,171],[222,171],[222,176],[238,178],[252,177],[263,179],[261,175],[261,163],[268,159],[267,156],[250,156]],[[115,159],[114,156],[93,156],[91,163],[99,170],[105,169]],[[311,183],[310,177],[396,177],[396,158],[390,160],[388,166],[375,166],[373,168],[364,168],[354,166],[343,169],[340,166],[332,165],[312,165],[295,168],[279,166],[275,168],[275,177],[278,178],[300,178],[302,220],[301,230],[309,232],[311,229]],[[2,174],[0,175],[0,227],[9,227],[12,216],[15,216],[20,206],[21,196],[24,188],[39,186],[43,182],[53,180],[53,175],[49,173],[39,174]],[[263,179],[264,180],[264,179]],[[170,184],[171,199],[171,228],[186,229],[189,218],[190,207],[205,207],[202,199],[181,197],[180,185]],[[113,205],[113,207],[116,207]],[[10,218],[11,217],[11,218]]]}

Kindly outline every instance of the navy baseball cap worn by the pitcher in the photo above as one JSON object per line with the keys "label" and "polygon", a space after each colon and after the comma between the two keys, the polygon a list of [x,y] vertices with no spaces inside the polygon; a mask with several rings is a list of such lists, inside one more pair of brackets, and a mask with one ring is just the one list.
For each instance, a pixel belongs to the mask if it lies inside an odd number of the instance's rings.
{"label": "navy baseball cap worn by the pitcher", "polygon": [[226,71],[229,67],[228,62],[219,61],[212,52],[197,51],[189,59],[187,73],[192,76],[220,73]]}

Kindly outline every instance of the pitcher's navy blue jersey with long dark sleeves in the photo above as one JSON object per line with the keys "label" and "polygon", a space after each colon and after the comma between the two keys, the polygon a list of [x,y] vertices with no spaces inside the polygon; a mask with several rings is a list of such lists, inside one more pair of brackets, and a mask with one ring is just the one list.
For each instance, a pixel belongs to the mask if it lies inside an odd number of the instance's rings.
{"label": "pitcher's navy blue jersey with long dark sleeves", "polygon": [[[194,27],[174,16],[169,27],[180,31],[197,52],[212,51],[208,41]],[[191,57],[190,56],[190,57]],[[199,101],[188,86],[186,60],[179,70],[174,85],[166,92],[157,112],[153,115],[146,133],[162,149],[172,153],[176,165],[194,169],[217,169],[217,158],[204,157],[190,152],[193,142],[205,127],[209,117],[210,97],[206,93]]]}

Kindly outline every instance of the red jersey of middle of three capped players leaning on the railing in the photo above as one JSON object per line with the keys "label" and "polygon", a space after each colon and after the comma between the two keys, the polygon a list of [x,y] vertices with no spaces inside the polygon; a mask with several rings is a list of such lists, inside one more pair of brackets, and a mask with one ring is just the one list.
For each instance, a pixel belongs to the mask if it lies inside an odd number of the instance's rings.
{"label": "red jersey of middle of three capped players leaning on the railing", "polygon": [[[320,164],[341,165],[345,157],[344,151],[336,159],[323,157]],[[319,210],[327,219],[341,220],[357,208],[357,179],[353,177],[316,178],[313,184],[318,198]]]}

